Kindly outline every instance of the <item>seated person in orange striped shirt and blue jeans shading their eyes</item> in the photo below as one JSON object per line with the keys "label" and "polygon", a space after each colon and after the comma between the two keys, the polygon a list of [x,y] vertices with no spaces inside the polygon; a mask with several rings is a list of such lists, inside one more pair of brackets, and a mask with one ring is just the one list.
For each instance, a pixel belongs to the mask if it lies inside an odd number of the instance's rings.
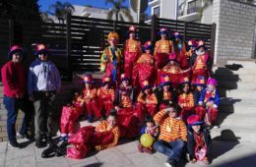
{"label": "seated person in orange striped shirt and blue jeans shading their eyes", "polygon": [[167,167],[178,164],[187,140],[185,123],[177,119],[177,116],[178,108],[171,104],[170,107],[160,110],[154,117],[156,124],[160,126],[160,137],[154,143],[154,148],[168,156],[165,163]]}

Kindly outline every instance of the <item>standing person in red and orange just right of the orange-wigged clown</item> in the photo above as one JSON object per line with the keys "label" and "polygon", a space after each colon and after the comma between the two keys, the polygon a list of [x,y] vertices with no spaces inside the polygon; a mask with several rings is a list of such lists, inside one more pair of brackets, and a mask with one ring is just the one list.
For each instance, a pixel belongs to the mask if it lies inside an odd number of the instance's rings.
{"label": "standing person in red and orange just right of the orange-wigged clown", "polygon": [[[131,26],[129,28],[129,35],[130,33],[135,34],[136,31],[136,27]],[[130,37],[125,41],[123,50],[124,73],[128,76],[128,78],[132,79],[133,68],[136,66],[136,62],[142,53],[141,42]]]}

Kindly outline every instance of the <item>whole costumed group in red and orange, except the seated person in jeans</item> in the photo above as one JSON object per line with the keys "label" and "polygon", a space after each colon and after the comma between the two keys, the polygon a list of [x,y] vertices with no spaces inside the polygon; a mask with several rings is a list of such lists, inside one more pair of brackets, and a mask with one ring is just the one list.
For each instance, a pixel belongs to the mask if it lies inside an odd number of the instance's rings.
{"label": "whole costumed group in red and orange, except the seated person in jeans", "polygon": [[[182,42],[179,32],[173,33],[171,41],[167,39],[168,29],[160,28],[161,39],[153,52],[151,41],[142,48],[136,40],[136,27],[130,27],[127,34],[129,39],[123,52],[117,47],[118,34],[108,34],[109,46],[100,59],[100,71],[104,73],[102,86],[96,88],[92,75],[86,75],[84,90],[63,107],[61,139],[75,145],[68,149],[68,156],[82,158],[92,145],[99,150],[115,145],[119,138],[134,139],[145,133],[157,140],[160,130],[153,117],[175,104],[180,109],[176,119],[188,127],[191,162],[208,163],[211,137],[201,125],[217,124],[220,97],[216,80],[209,78],[211,57],[205,42],[194,39]],[[105,118],[107,121],[76,133],[76,123],[82,114],[91,123]],[[153,146],[139,143],[138,148],[140,152],[153,152]]]}

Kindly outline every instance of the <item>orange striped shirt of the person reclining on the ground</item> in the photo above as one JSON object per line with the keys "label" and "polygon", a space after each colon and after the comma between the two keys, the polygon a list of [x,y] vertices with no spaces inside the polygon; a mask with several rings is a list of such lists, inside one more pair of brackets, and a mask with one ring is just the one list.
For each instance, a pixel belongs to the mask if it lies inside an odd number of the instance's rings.
{"label": "orange striped shirt of the person reclining on the ground", "polygon": [[114,139],[111,143],[108,144],[102,144],[102,145],[96,145],[96,150],[102,150],[108,147],[112,147],[115,146],[118,142],[118,139],[120,137],[120,130],[119,127],[115,126],[114,128],[110,128],[108,126],[107,121],[102,121],[100,122],[99,125],[96,126],[96,132],[98,133],[102,133],[102,132],[106,132],[106,131],[110,131],[114,134]]}

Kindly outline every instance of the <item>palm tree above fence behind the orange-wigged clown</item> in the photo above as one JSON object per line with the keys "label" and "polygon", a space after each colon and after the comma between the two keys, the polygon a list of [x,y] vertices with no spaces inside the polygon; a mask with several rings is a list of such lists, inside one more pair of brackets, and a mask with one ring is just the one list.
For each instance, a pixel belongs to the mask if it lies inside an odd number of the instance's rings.
{"label": "palm tree above fence behind the orange-wigged clown", "polygon": [[112,4],[113,8],[107,13],[106,19],[111,20],[113,16],[115,21],[124,21],[124,18],[127,18],[129,22],[133,22],[133,17],[130,14],[130,11],[127,7],[123,6],[125,0],[105,0],[105,5],[108,3]]}

